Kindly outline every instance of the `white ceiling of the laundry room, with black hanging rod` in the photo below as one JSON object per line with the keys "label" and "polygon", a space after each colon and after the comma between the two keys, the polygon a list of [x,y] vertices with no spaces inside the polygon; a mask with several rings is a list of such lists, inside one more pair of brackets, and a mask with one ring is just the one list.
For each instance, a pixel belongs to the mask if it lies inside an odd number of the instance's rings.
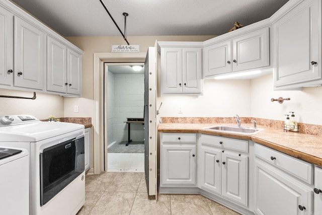
{"label": "white ceiling of the laundry room, with black hanging rod", "polygon": [[[121,36],[99,0],[11,0],[62,36]],[[266,19],[288,0],[103,0],[127,36],[221,35]]]}

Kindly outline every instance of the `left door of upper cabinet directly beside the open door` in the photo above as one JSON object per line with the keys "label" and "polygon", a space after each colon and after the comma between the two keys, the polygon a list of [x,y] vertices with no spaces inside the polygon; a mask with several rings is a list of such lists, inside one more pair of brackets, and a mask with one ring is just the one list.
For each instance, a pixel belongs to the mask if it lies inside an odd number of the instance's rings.
{"label": "left door of upper cabinet directly beside the open door", "polygon": [[161,49],[161,94],[182,93],[182,48]]}

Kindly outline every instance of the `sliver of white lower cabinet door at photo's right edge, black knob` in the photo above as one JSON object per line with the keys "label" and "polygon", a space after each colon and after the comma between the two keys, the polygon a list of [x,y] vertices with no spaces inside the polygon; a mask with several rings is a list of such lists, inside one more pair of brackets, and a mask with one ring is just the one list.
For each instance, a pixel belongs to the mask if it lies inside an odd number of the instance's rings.
{"label": "sliver of white lower cabinet door at photo's right edge, black knob", "polygon": [[314,214],[318,214],[322,212],[322,169],[315,167],[314,175]]}

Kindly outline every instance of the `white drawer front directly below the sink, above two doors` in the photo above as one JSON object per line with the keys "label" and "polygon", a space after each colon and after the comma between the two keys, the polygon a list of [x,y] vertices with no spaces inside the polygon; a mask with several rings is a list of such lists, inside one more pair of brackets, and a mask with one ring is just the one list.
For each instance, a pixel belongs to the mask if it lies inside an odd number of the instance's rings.
{"label": "white drawer front directly below the sink, above two doors", "polygon": [[201,134],[201,144],[248,153],[248,141]]}

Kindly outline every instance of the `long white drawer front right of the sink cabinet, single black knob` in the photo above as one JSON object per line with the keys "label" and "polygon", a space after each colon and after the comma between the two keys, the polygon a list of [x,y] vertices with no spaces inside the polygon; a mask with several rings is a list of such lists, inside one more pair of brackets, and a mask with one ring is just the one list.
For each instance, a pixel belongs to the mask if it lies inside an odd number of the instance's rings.
{"label": "long white drawer front right of the sink cabinet, single black knob", "polygon": [[268,163],[276,166],[296,178],[312,184],[313,180],[313,165],[305,161],[293,158],[289,155],[277,152],[267,147],[255,144],[255,156],[261,158]]}

